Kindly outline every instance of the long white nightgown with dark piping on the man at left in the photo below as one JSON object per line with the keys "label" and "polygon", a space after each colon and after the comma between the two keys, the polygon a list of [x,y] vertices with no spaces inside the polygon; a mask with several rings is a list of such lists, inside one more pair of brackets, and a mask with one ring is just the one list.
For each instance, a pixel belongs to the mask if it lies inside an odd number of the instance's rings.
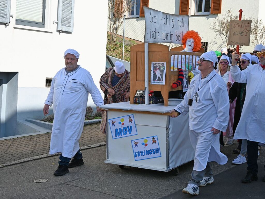
{"label": "long white nightgown with dark piping on the man at left", "polygon": [[104,104],[92,76],[79,65],[70,73],[62,68],[52,79],[45,101],[49,106],[53,104],[54,111],[50,154],[61,152],[64,157],[72,158],[79,150],[89,93],[96,106]]}

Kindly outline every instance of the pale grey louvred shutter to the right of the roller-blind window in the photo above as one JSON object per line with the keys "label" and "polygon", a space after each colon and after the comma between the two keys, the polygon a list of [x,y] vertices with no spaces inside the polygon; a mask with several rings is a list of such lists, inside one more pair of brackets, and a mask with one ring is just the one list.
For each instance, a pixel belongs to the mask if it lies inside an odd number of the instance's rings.
{"label": "pale grey louvred shutter to the right of the roller-blind window", "polygon": [[74,0],[59,0],[58,31],[74,31]]}

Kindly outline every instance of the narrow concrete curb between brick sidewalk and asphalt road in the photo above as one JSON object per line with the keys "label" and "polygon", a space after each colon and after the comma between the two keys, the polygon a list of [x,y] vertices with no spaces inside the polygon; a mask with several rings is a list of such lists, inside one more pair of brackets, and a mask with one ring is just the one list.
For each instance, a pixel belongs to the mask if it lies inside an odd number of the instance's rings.
{"label": "narrow concrete curb between brick sidewalk and asphalt road", "polygon": [[[97,143],[97,144],[91,144],[91,145],[88,145],[88,146],[82,146],[82,147],[80,147],[80,150],[96,148],[96,147],[104,146],[104,145],[106,145],[106,142],[100,142],[100,143]],[[53,157],[53,156],[60,155],[60,154],[61,153],[55,153],[55,154],[48,154],[47,153],[47,154],[43,154],[43,155],[37,155],[37,156],[34,156],[34,157],[29,157],[29,158],[24,158],[24,159],[20,159],[20,160],[15,160],[15,161],[12,161],[12,162],[6,162],[6,163],[3,163],[3,164],[0,164],[0,168],[11,166],[11,165],[17,165],[17,164],[20,164],[20,163],[23,163],[23,162],[29,162],[29,161],[33,161],[33,160],[37,160],[37,159]]]}

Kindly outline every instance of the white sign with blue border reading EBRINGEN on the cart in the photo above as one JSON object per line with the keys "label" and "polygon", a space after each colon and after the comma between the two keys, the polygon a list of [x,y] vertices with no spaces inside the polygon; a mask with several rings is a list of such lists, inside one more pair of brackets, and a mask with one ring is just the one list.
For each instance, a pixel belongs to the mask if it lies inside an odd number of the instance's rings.
{"label": "white sign with blue border reading EBRINGEN on the cart", "polygon": [[132,140],[135,161],[161,157],[158,137],[144,137]]}

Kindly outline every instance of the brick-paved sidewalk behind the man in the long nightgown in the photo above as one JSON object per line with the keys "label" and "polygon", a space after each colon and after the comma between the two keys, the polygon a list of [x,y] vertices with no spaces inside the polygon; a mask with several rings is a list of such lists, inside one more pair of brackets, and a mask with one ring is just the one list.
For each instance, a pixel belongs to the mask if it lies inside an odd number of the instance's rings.
{"label": "brick-paved sidewalk behind the man in the long nightgown", "polygon": [[[106,141],[106,135],[99,131],[99,124],[84,126],[80,147],[98,144]],[[50,149],[51,133],[17,137],[0,140],[0,165],[24,158],[48,154]]]}

